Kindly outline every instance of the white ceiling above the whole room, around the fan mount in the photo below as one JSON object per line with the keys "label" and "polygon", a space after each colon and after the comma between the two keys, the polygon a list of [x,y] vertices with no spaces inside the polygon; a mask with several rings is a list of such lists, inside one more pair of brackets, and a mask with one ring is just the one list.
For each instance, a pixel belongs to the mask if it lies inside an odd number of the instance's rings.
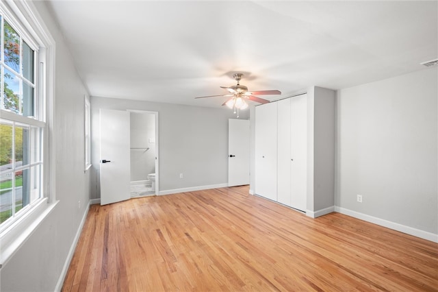
{"label": "white ceiling above the whole room, around the fan mount", "polygon": [[48,1],[90,95],[220,107],[233,73],[292,95],[426,69],[438,1]]}

